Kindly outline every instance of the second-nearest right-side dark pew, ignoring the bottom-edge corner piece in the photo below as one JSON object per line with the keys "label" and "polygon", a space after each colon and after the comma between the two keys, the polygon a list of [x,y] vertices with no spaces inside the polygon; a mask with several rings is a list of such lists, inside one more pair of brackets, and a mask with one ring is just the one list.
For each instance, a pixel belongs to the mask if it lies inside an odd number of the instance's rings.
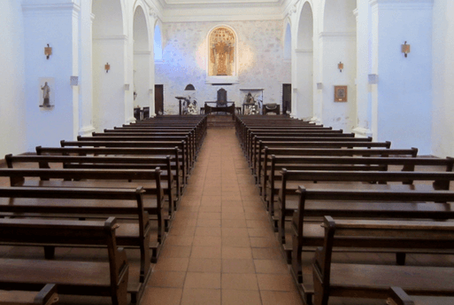
{"label": "second-nearest right-side dark pew, ignoring the bottom-edge corner piece", "polygon": [[[454,192],[434,191],[430,185],[375,185],[374,188],[338,187],[317,189],[299,187],[300,198],[293,214],[290,245],[286,250],[288,262],[291,258],[291,272],[299,283],[304,300],[311,303],[313,285],[311,274],[303,274],[302,254],[314,246],[322,246],[324,232],[319,219],[325,215],[348,218],[375,218],[401,220],[410,219],[453,219],[454,210],[450,204]],[[375,252],[385,250],[374,249]],[[373,252],[372,251],[372,252]],[[420,250],[389,250],[396,253],[396,262],[404,265],[405,253],[419,253]],[[428,252],[433,253],[433,252]],[[290,263],[290,262],[289,262]]]}

